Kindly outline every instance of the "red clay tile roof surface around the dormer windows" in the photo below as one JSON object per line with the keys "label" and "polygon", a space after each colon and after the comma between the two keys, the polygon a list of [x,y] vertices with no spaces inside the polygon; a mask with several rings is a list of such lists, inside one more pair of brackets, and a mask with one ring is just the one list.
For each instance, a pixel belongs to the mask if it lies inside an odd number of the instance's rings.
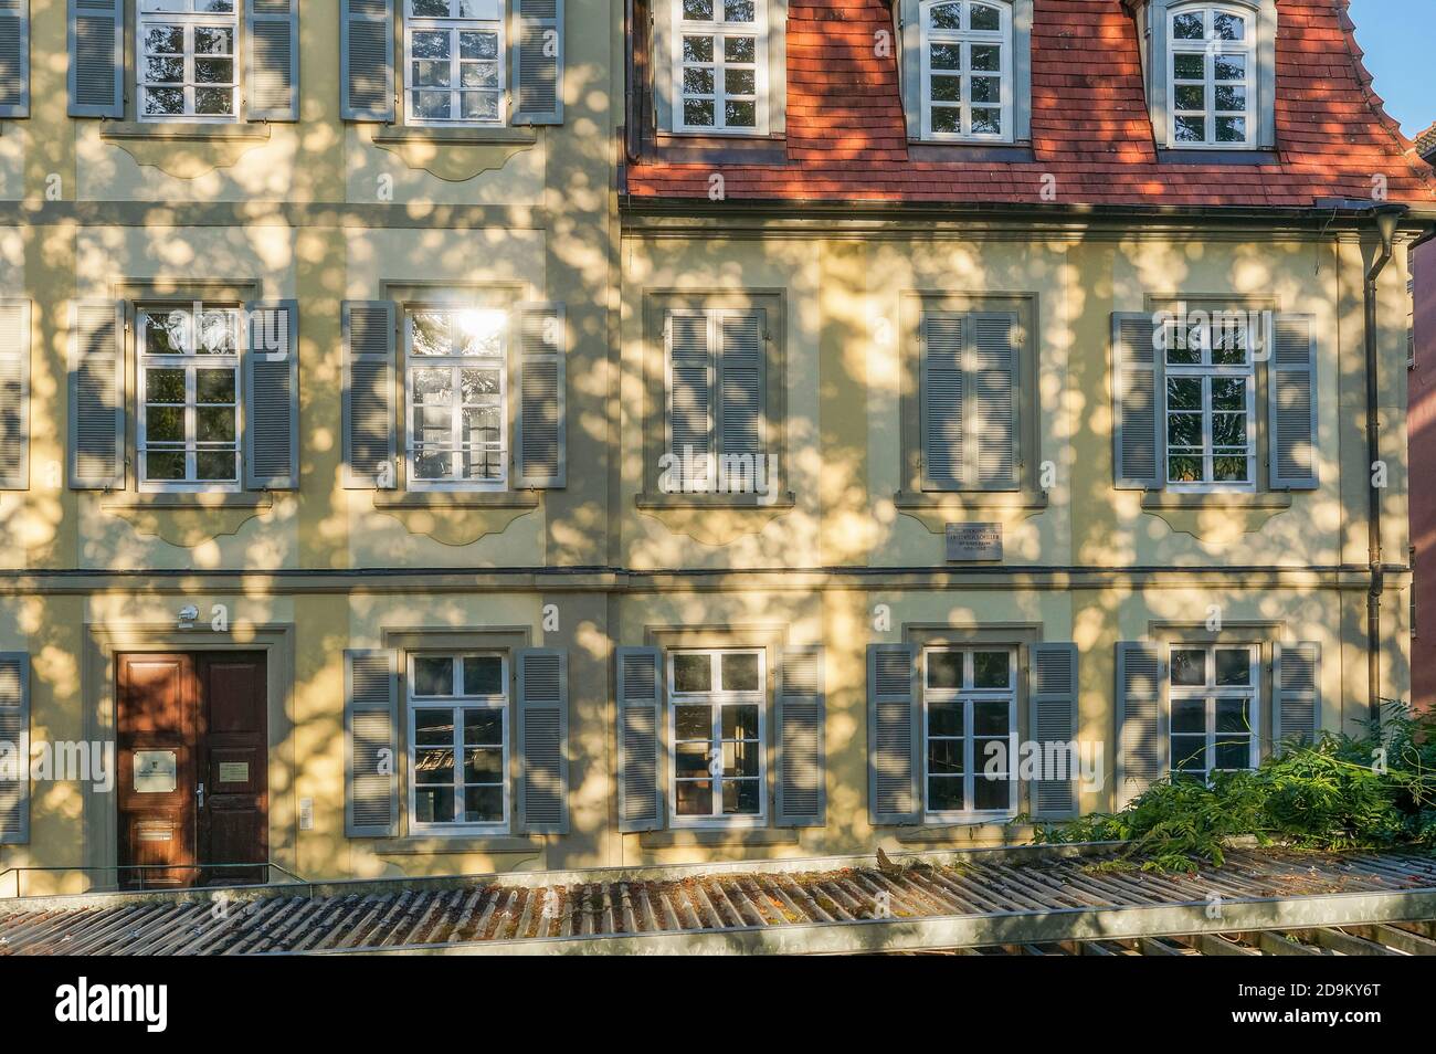
{"label": "red clay tile roof surface around the dormer windows", "polygon": [[1159,164],[1143,98],[1137,27],[1122,0],[1035,0],[1031,162],[913,161],[898,59],[875,57],[892,29],[886,0],[790,0],[787,165],[648,162],[633,197],[729,200],[1311,207],[1370,200],[1436,202],[1436,174],[1381,109],[1347,0],[1278,0],[1274,165]]}

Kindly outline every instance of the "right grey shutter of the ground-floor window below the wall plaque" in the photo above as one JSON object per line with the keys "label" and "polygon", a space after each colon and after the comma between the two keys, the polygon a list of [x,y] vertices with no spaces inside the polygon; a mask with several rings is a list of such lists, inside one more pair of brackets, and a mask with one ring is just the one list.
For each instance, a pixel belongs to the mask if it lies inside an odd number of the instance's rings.
{"label": "right grey shutter of the ground-floor window below the wall plaque", "polygon": [[1073,817],[1077,816],[1077,645],[1035,645],[1031,662],[1028,738],[1043,748],[1043,778],[1032,783],[1030,811],[1044,820]]}

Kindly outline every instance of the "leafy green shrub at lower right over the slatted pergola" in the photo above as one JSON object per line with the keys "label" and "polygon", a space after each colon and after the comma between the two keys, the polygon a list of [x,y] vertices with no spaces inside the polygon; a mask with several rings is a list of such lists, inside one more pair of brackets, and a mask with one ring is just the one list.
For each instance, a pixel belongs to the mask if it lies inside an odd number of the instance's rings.
{"label": "leafy green shrub at lower right over the slatted pergola", "polygon": [[[1014,824],[1034,823],[1018,817]],[[1165,778],[1120,813],[1035,821],[1037,843],[1124,841],[1104,867],[1193,872],[1221,866],[1229,839],[1297,849],[1436,849],[1436,715],[1389,704],[1360,735],[1282,744],[1251,773],[1212,785]]]}

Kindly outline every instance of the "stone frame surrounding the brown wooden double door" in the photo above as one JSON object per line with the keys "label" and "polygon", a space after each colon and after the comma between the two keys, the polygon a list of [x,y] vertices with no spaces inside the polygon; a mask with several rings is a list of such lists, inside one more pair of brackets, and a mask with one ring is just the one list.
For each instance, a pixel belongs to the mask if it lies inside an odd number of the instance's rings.
{"label": "stone frame surrounding the brown wooden double door", "polygon": [[[224,597],[215,603],[227,602]],[[233,600],[228,600],[234,610]],[[201,623],[202,625],[202,623]],[[85,699],[83,737],[116,751],[118,694],[115,656],[129,652],[263,652],[266,666],[266,724],[269,764],[269,859],[290,872],[297,870],[299,801],[294,788],[294,625],[244,625],[243,638],[236,629],[217,632],[197,625],[177,629],[174,623],[88,623],[80,689]],[[336,732],[337,734],[337,732]],[[276,794],[274,787],[289,787]],[[92,784],[82,787],[83,854],[86,867],[112,867],[119,863],[118,798],[101,794]],[[101,882],[112,875],[95,873]]]}

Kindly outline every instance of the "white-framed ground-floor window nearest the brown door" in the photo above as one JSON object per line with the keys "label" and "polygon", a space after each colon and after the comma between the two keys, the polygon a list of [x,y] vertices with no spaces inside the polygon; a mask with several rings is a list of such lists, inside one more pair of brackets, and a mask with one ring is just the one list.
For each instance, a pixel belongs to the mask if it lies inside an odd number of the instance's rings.
{"label": "white-framed ground-floor window nearest the brown door", "polygon": [[508,659],[411,652],[409,829],[508,826]]}

